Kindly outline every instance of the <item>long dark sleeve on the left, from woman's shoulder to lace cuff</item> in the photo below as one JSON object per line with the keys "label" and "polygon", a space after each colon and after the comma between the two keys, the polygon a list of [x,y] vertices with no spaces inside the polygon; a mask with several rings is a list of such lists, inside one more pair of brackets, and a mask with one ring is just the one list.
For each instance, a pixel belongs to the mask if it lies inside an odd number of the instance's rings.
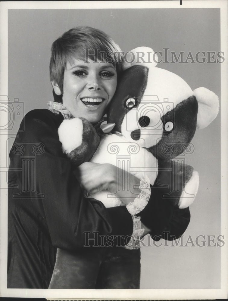
{"label": "long dark sleeve on the left, from woman's shoulder to lace cuff", "polygon": [[[28,157],[33,155],[32,144],[43,147],[36,155],[35,187],[44,195],[38,201],[42,202],[53,246],[75,250],[85,245],[86,237],[91,238],[87,244],[94,245],[99,244],[100,235],[131,235],[133,221],[125,206],[106,209],[100,201],[83,197],[73,166],[61,149],[59,124],[52,112],[33,110],[25,116],[24,130],[14,142],[14,148],[23,145],[23,155]],[[20,166],[21,158],[15,151],[11,150],[10,159],[11,166]]]}

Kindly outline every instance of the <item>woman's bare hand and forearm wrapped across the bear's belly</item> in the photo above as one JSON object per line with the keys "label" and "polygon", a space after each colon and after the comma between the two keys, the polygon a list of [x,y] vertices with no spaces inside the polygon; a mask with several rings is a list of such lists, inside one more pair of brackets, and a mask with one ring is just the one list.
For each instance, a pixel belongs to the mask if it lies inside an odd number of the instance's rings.
{"label": "woman's bare hand and forearm wrapped across the bear's belly", "polygon": [[85,162],[78,166],[76,177],[88,195],[108,190],[116,194],[125,205],[133,202],[141,192],[138,178],[109,163]]}

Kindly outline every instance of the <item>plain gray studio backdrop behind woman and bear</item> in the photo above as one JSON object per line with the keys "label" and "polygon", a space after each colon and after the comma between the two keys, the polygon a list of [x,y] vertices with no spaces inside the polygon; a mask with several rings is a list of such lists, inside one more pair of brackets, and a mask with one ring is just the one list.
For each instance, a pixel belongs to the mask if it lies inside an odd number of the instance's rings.
{"label": "plain gray studio backdrop behind woman and bear", "polygon": [[[123,51],[148,46],[164,48],[168,55],[183,51],[220,49],[220,9],[39,9],[8,11],[8,97],[24,104],[24,113],[46,108],[52,100],[49,81],[49,58],[52,42],[64,31],[79,25],[96,27],[108,33]],[[201,57],[201,56],[199,56]],[[164,61],[164,60],[163,60]],[[170,56],[168,61],[171,61]],[[221,61],[221,59],[220,59]],[[165,63],[158,67],[170,70],[192,89],[206,87],[220,98],[220,63]],[[15,115],[17,129],[21,114]],[[9,138],[8,148],[14,138]],[[195,133],[195,151],[186,155],[200,176],[200,186],[190,206],[191,221],[182,246],[142,247],[141,288],[220,288],[220,116],[207,128]],[[191,235],[191,239],[189,239]],[[198,245],[195,243],[197,237]],[[214,237],[208,235],[214,235]],[[145,241],[151,244],[150,239]],[[203,241],[206,246],[203,247]],[[209,242],[211,240],[211,242]],[[193,242],[193,244],[192,244]],[[159,242],[157,242],[159,244]],[[207,246],[210,244],[210,246]],[[222,245],[222,243],[219,243]],[[214,246],[215,245],[215,246]],[[185,246],[185,247],[184,247]]]}

